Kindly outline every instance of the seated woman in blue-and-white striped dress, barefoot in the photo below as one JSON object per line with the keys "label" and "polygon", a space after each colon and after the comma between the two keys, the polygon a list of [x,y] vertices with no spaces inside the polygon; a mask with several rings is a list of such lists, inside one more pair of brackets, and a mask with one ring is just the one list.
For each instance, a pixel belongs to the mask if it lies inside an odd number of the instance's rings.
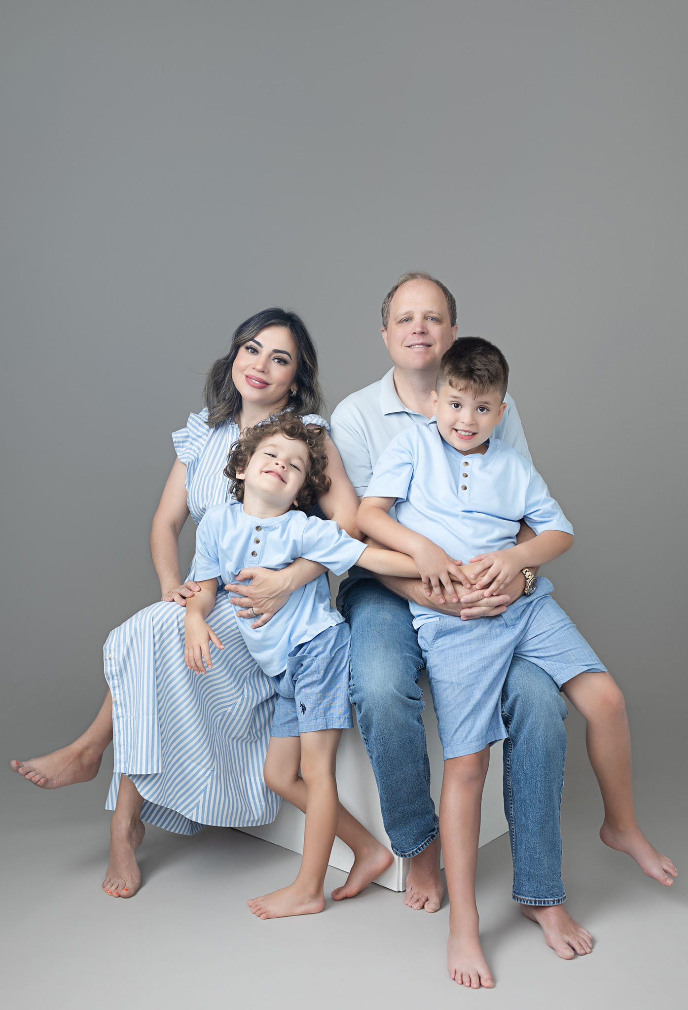
{"label": "seated woman in blue-and-white striped dress, barefoot", "polygon": [[[97,774],[113,738],[115,774],[106,807],[114,809],[110,864],[103,882],[109,894],[131,897],[140,885],[135,850],[142,820],[182,834],[204,824],[240,827],[274,820],[279,799],[263,779],[275,704],[272,681],[251,658],[236,628],[231,600],[218,591],[213,627],[224,649],[213,669],[191,675],[184,664],[186,600],[199,591],[179,571],[179,534],[191,514],[198,524],[207,508],[227,500],[227,453],[240,432],[272,414],[292,410],[306,422],[326,422],[317,383],[317,357],[302,320],[273,308],[235,330],[229,351],[212,366],[206,407],[173,434],[177,460],[151,531],[151,551],[162,602],[139,611],[105,643],[108,694],[93,724],[74,743],[45,758],[11,768],[43,789],[86,782]],[[331,441],[329,491],[319,506],[327,518],[357,535],[358,498]],[[248,619],[265,623],[291,592],[322,567],[305,559],[279,572],[255,569]],[[241,587],[231,587],[240,593]],[[343,896],[343,895],[342,895]]]}

